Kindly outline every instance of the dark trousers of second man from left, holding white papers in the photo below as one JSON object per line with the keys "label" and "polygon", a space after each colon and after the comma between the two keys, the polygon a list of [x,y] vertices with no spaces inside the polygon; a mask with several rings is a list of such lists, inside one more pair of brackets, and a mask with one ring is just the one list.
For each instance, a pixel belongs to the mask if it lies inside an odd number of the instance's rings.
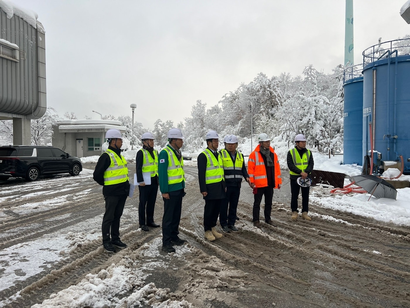
{"label": "dark trousers of second man from left, holding white papers", "polygon": [[157,200],[158,185],[138,186],[139,204],[138,219],[140,225],[154,222],[154,208]]}

